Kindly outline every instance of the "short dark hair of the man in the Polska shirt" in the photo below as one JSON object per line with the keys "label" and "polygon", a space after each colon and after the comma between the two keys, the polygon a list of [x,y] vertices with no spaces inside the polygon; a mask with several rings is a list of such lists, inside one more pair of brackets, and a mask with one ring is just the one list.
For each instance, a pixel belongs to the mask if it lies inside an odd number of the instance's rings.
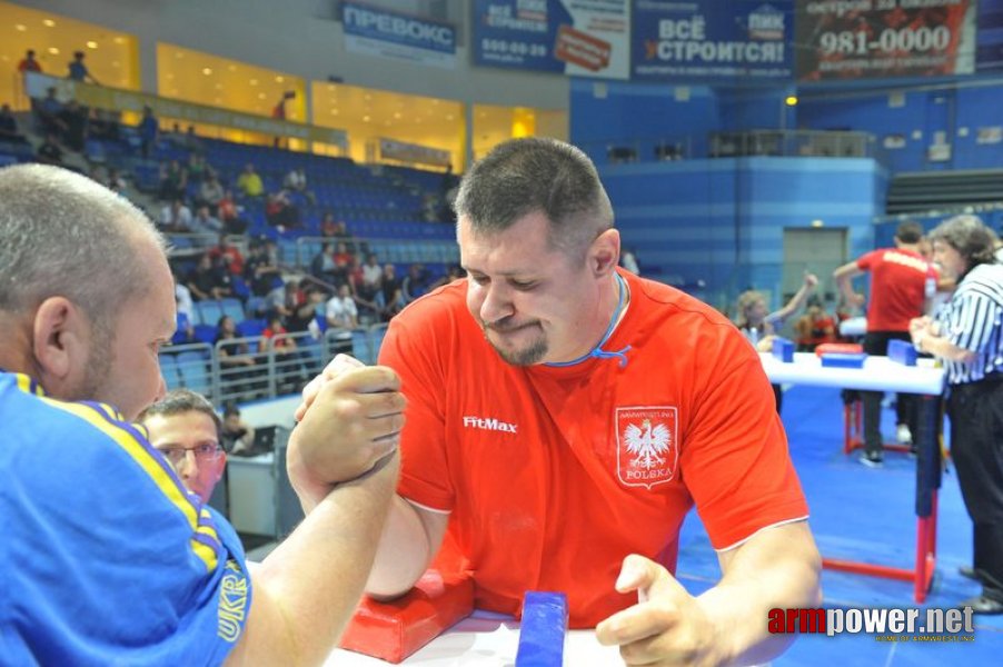
{"label": "short dark hair of the man in the Polska shirt", "polygon": [[496,146],[460,181],[454,203],[478,232],[499,232],[534,212],[550,222],[550,243],[590,243],[613,227],[613,206],[592,160],[579,149],[539,137]]}

